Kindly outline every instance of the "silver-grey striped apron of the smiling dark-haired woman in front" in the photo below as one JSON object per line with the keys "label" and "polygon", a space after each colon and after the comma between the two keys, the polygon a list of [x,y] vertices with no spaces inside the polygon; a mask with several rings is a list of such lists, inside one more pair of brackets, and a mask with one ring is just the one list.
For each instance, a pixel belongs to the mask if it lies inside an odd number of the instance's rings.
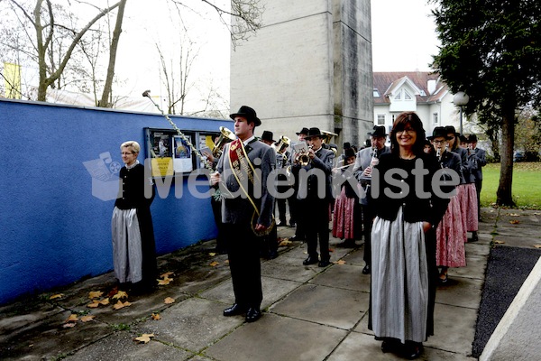
{"label": "silver-grey striped apron of the smiling dark-haired woman in front", "polygon": [[376,338],[426,340],[428,267],[422,222],[375,218],[371,230],[371,329]]}

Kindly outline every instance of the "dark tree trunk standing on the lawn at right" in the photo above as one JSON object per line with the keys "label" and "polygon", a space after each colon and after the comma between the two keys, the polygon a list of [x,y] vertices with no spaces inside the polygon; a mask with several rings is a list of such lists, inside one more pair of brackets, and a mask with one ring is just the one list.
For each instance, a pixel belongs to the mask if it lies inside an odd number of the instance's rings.
{"label": "dark tree trunk standing on the lawn at right", "polygon": [[513,184],[513,148],[515,147],[515,108],[506,106],[502,110],[500,185],[496,192],[496,204],[515,207],[511,192]]}

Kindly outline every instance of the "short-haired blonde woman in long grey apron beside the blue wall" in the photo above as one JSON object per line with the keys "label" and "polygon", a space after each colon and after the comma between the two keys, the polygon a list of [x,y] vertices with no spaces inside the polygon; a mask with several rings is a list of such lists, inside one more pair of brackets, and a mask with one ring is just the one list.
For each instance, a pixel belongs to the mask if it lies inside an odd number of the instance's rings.
{"label": "short-haired blonde woman in long grey apron beside the blue wall", "polygon": [[121,289],[129,288],[135,294],[151,292],[158,273],[151,218],[155,191],[137,160],[139,143],[124,142],[120,149],[125,166],[120,170],[122,189],[111,221],[115,277]]}

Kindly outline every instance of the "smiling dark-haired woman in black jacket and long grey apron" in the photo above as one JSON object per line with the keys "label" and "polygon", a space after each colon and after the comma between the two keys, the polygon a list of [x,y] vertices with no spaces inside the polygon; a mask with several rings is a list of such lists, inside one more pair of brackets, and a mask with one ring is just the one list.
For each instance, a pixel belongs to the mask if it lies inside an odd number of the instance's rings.
{"label": "smiling dark-haired woman in black jacket and long grey apron", "polygon": [[449,202],[449,189],[442,187],[441,197],[433,189],[440,167],[423,152],[425,137],[417,114],[400,114],[390,133],[391,152],[381,155],[371,180],[377,201],[369,329],[383,341],[383,352],[410,359],[421,355],[422,342],[434,334],[436,227]]}

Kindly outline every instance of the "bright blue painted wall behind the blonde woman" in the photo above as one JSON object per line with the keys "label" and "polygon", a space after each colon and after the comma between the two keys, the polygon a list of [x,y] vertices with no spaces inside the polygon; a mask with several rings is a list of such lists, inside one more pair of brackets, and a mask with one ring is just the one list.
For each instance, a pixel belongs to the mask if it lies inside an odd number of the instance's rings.
{"label": "bright blue painted wall behind the blonde woman", "polygon": [[[217,132],[226,120],[171,117],[182,130]],[[160,115],[0,99],[0,304],[113,269],[114,200],[92,195],[83,162],[142,145],[144,127],[171,129]],[[178,185],[177,185],[178,186]],[[209,199],[188,192],[151,205],[159,255],[215,237]],[[202,187],[203,192],[207,187]]]}

